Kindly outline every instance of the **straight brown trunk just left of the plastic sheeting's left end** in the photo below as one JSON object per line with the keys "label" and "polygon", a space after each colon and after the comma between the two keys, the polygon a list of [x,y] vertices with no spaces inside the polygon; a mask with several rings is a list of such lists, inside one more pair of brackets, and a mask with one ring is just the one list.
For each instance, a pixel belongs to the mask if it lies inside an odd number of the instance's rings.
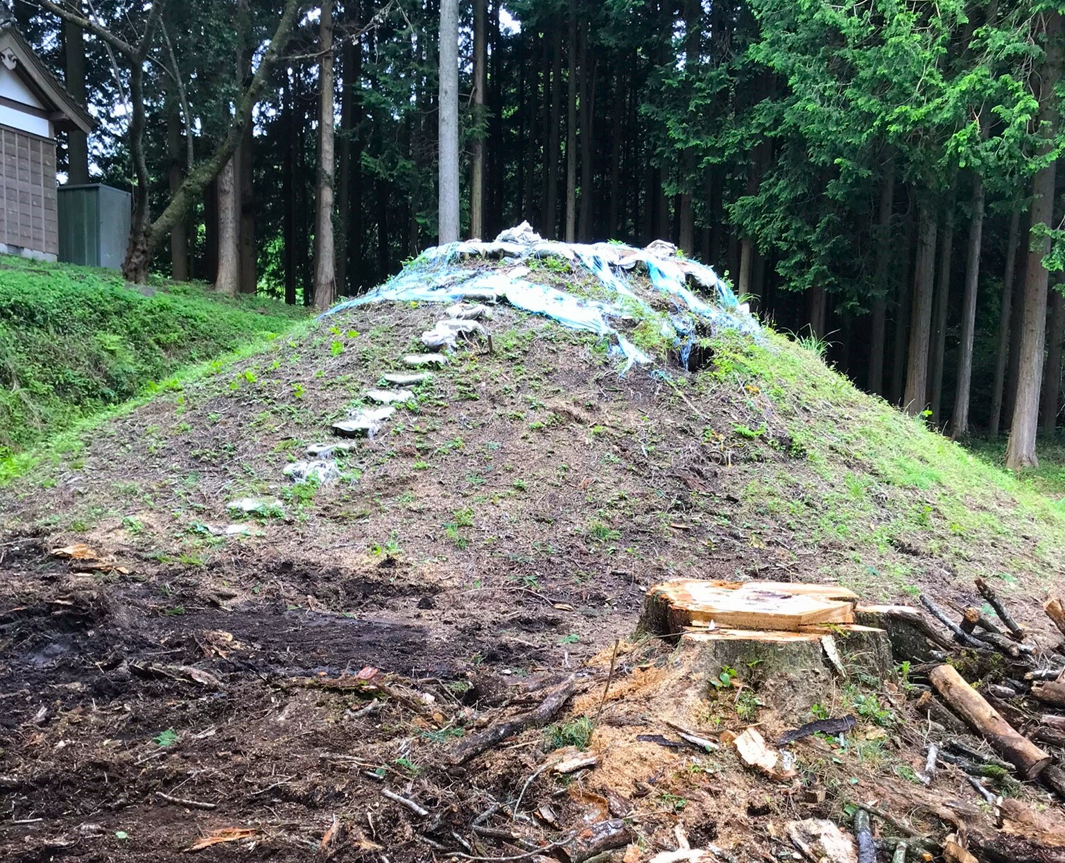
{"label": "straight brown trunk just left of the plastic sheeting's left end", "polygon": [[314,213],[314,307],[328,309],[337,299],[337,255],[333,248],[333,78],[332,0],[322,0],[318,18],[318,169]]}

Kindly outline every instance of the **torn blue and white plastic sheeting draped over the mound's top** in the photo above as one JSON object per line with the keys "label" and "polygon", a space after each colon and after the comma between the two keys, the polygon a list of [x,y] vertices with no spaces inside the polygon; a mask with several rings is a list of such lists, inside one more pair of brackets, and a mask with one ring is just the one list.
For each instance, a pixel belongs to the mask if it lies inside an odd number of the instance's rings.
{"label": "torn blue and white plastic sheeting draped over the mound's top", "polygon": [[[461,259],[470,257],[512,258],[515,263],[532,258],[564,258],[594,275],[609,295],[607,299],[588,299],[529,281],[523,278],[529,272],[524,266],[506,272],[458,265]],[[503,231],[492,243],[471,240],[428,248],[389,281],[368,294],[334,306],[326,314],[368,303],[506,300],[524,311],[552,317],[571,329],[612,338],[616,340],[613,349],[625,358],[623,371],[627,371],[634,363],[652,362],[651,357],[615,326],[641,314],[650,320],[654,314],[648,298],[641,297],[627,278],[626,271],[637,264],[646,268],[654,293],[669,299],[670,313],[661,315],[661,335],[672,342],[685,365],[701,329],[736,329],[753,337],[760,333],[761,328],[750,309],[739,303],[714,270],[678,257],[670,243],[656,241],[643,249],[615,243],[559,243],[542,240],[527,223]],[[689,281],[708,292],[709,298],[692,291]],[[430,330],[435,331],[438,330]],[[443,340],[439,346],[449,344]],[[405,361],[412,364],[408,359]]]}

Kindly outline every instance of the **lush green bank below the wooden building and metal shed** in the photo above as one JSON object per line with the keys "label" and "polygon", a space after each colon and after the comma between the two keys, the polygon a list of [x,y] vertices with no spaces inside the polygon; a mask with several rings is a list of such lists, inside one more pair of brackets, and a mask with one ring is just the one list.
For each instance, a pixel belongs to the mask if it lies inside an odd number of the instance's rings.
{"label": "lush green bank below the wooden building and metal shed", "polygon": [[301,316],[200,286],[137,290],[112,270],[0,256],[0,458]]}

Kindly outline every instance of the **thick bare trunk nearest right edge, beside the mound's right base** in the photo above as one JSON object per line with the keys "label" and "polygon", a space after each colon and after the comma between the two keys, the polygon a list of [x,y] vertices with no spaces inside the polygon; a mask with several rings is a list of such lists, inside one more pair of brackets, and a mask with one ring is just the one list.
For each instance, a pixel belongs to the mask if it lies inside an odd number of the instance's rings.
{"label": "thick bare trunk nearest right edge, beside the mound's right base", "polygon": [[[1054,85],[1061,72],[1062,47],[1060,42],[1062,16],[1047,13],[1046,60],[1043,68],[1039,120],[1046,139],[1042,151],[1048,152],[1058,133],[1058,97]],[[1032,225],[1051,227],[1054,212],[1054,179],[1056,163],[1050,162],[1032,180]],[[1010,442],[1005,450],[1005,465],[1012,470],[1037,467],[1035,431],[1039,417],[1039,390],[1043,375],[1043,348],[1047,326],[1048,273],[1043,258],[1050,251],[1050,238],[1033,238],[1028,253],[1025,274],[1023,326],[1020,336],[1020,364],[1017,378],[1017,398],[1014,403]]]}

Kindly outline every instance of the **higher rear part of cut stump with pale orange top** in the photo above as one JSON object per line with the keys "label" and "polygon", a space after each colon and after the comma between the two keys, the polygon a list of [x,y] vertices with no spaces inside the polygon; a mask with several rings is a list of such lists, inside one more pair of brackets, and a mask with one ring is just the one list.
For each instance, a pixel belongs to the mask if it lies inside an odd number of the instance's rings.
{"label": "higher rear part of cut stump with pale orange top", "polygon": [[857,599],[834,585],[676,579],[648,591],[642,622],[665,636],[709,625],[797,632],[813,623],[853,623]]}

